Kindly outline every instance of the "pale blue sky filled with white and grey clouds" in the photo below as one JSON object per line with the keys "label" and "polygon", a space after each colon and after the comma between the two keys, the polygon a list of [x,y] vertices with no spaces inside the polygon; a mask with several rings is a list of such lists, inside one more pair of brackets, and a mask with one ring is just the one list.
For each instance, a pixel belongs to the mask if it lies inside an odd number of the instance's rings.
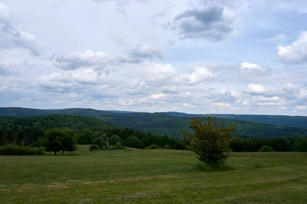
{"label": "pale blue sky filled with white and grey clouds", "polygon": [[0,107],[307,116],[307,0],[0,0]]}

